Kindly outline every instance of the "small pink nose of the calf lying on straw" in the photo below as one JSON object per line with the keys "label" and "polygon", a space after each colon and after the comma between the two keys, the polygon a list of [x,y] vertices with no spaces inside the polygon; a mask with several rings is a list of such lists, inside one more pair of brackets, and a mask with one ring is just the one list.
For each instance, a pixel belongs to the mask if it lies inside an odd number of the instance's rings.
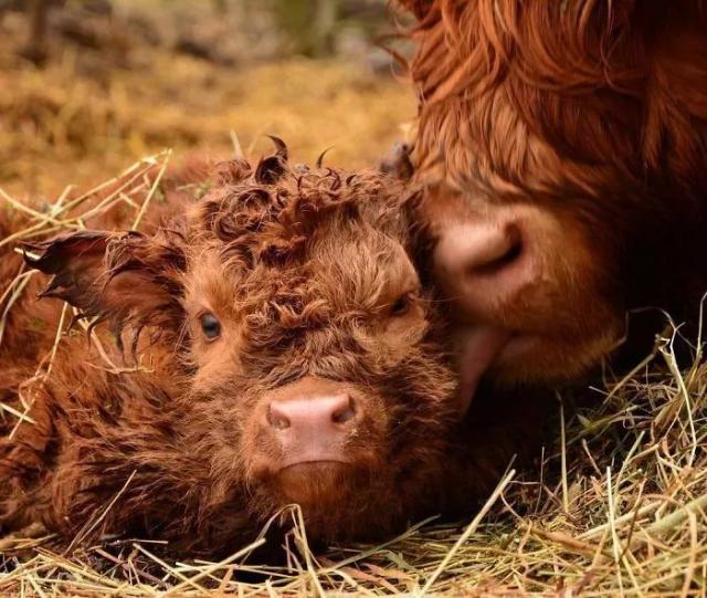
{"label": "small pink nose of the calf lying on straw", "polygon": [[355,416],[351,397],[342,392],[327,397],[273,400],[270,403],[268,422],[282,431],[337,434]]}

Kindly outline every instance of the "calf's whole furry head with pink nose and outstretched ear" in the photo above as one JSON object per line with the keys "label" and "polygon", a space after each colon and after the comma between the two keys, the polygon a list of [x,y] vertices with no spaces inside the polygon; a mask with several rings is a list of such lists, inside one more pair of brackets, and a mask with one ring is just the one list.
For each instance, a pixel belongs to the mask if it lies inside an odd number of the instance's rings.
{"label": "calf's whole furry head with pink nose and outstretched ear", "polygon": [[458,419],[405,200],[281,149],[226,165],[152,237],[75,233],[29,261],[54,274],[46,294],[151,355],[158,384],[181,380],[170,434],[200,512],[262,522],[298,503],[315,537],[372,536],[429,507]]}

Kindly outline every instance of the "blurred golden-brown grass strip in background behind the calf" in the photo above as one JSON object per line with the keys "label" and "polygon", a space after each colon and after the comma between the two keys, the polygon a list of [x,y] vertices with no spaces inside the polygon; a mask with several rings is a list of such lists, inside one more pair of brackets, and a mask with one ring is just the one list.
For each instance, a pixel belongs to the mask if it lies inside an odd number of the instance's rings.
{"label": "blurred golden-brown grass strip in background behind the calf", "polygon": [[[87,65],[67,48],[44,70],[0,45],[0,185],[19,196],[94,185],[166,147],[251,154],[277,134],[303,160],[369,166],[405,137],[414,97],[391,76],[304,57],[228,69],[147,49],[131,69]],[[98,73],[94,72],[99,70]]]}

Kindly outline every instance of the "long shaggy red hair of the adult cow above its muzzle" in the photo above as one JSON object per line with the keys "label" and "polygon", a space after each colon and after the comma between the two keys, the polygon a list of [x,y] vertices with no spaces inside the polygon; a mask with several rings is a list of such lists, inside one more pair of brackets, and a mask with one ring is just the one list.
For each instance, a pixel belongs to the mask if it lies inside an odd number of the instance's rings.
{"label": "long shaggy red hair of the adult cow above its muzzle", "polygon": [[[583,166],[576,172],[577,185],[592,166],[616,168],[639,180],[648,177],[648,182],[658,177],[680,191],[704,183],[707,40],[701,2],[425,4],[412,33],[420,45],[411,73],[425,106],[418,151],[439,154],[442,146],[452,176],[469,172],[462,156],[450,156],[453,146],[444,134],[446,127],[461,126],[460,145],[473,144],[495,174],[521,187],[534,182],[527,180],[534,156],[525,139],[506,137],[506,145],[517,149],[503,147],[504,135],[513,130],[506,128],[511,116],[489,104],[502,87],[514,119],[550,145],[560,160]],[[591,179],[585,185],[593,188]]]}

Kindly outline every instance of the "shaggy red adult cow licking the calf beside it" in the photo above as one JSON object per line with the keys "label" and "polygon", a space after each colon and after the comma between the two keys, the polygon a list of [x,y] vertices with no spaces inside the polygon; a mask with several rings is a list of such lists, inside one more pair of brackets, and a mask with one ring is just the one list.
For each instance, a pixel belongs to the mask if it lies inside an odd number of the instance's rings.
{"label": "shaggy red adult cow licking the calf beside it", "polygon": [[467,396],[485,373],[576,380],[626,332],[635,353],[656,332],[627,331],[636,308],[696,316],[707,288],[703,2],[401,3],[418,19],[412,160],[434,270],[467,325]]}

